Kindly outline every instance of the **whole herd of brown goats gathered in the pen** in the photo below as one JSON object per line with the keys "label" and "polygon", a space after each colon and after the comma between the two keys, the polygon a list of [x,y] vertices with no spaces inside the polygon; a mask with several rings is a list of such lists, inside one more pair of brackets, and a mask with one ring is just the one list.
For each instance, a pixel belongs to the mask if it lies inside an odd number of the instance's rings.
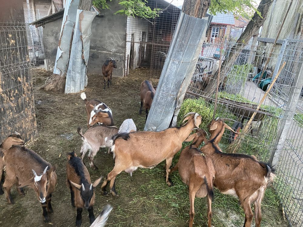
{"label": "whole herd of brown goats gathered in the pen", "polygon": [[[110,60],[108,64],[112,64]],[[109,74],[111,75],[111,74]],[[110,81],[110,80],[109,80]],[[148,109],[155,95],[155,88],[150,81],[141,84],[141,107]],[[267,163],[258,161],[255,156],[245,154],[223,153],[218,146],[225,129],[236,133],[225,121],[227,118],[215,119],[208,124],[209,139],[205,130],[199,128],[201,115],[187,113],[181,127],[170,127],[160,132],[137,131],[132,119],[126,119],[118,129],[113,120],[112,110],[97,99],[88,100],[81,94],[87,112],[88,130],[82,137],[81,158],[75,152],[68,153],[66,163],[66,185],[70,189],[71,204],[77,209],[76,226],[82,225],[82,209],[87,209],[91,226],[104,226],[112,206],[107,205],[95,219],[93,204],[94,189],[102,180],[102,176],[91,182],[88,169],[84,163],[86,152],[91,168],[97,169],[93,161],[100,147],[108,147],[113,153],[115,166],[106,176],[101,190],[108,196],[108,184],[112,196],[117,197],[115,190],[116,176],[125,171],[132,175],[138,168],[153,168],[162,161],[165,164],[165,178],[168,186],[172,186],[170,175],[178,170],[182,181],[189,186],[190,220],[193,226],[195,197],[207,197],[208,227],[211,227],[211,202],[214,196],[213,187],[223,194],[230,194],[239,199],[245,211],[245,227],[250,227],[253,219],[251,204],[255,206],[255,226],[261,224],[261,201],[266,187],[273,182],[274,169]],[[192,134],[193,132],[193,134]],[[181,151],[178,163],[172,168],[175,154],[181,149],[183,142],[193,141]],[[204,146],[200,145],[204,142]],[[0,145],[0,176],[9,204],[14,203],[11,187],[24,195],[23,188],[28,186],[35,190],[38,201],[42,205],[45,222],[49,222],[49,214],[53,212],[51,199],[57,185],[56,165],[52,166],[34,151],[24,146],[25,142],[19,133],[9,135]],[[3,170],[6,170],[5,179]],[[4,194],[0,183],[0,194]]]}

